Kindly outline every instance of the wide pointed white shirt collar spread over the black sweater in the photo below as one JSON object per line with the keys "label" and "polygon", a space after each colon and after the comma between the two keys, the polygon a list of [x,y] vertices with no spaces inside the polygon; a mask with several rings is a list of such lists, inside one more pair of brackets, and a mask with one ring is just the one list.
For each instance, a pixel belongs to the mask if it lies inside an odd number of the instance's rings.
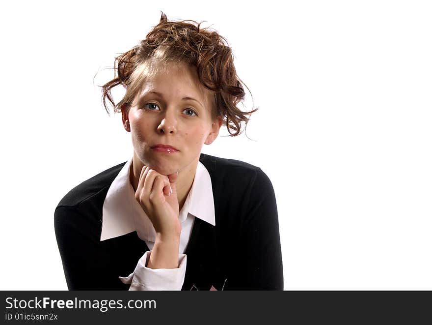
{"label": "wide pointed white shirt collar spread over the black sweater", "polygon": [[[155,241],[153,225],[135,200],[135,191],[129,181],[131,164],[132,158],[126,162],[108,189],[102,208],[101,241],[134,231],[142,240]],[[192,187],[180,210],[180,222],[184,222],[188,214],[216,225],[212,180],[201,162],[198,162]]]}

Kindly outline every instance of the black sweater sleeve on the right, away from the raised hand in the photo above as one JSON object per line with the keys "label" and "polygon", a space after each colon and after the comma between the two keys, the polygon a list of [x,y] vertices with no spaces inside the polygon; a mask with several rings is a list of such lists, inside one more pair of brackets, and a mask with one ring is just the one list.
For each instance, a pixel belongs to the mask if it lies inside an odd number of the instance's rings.
{"label": "black sweater sleeve on the right, away from the raised hand", "polygon": [[[243,289],[283,290],[282,253],[273,186],[257,169],[240,236]],[[242,288],[239,288],[242,289]]]}

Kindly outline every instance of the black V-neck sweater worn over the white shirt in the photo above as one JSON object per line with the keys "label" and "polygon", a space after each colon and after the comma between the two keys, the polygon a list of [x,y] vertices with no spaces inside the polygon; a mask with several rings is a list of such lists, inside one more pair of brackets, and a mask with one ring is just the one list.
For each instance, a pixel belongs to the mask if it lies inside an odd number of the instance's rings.
{"label": "black V-neck sweater worn over the white shirt", "polygon": [[[213,188],[216,226],[195,218],[182,290],[283,290],[276,201],[255,166],[201,154]],[[125,162],[126,163],[126,162]],[[136,232],[100,241],[108,188],[125,163],[82,182],[61,199],[54,228],[69,290],[128,290],[148,251]]]}

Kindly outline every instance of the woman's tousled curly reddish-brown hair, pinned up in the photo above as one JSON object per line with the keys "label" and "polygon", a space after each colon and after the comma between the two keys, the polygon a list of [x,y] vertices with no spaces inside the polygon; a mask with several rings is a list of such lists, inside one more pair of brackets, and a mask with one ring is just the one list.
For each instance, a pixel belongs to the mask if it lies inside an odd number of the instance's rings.
{"label": "woman's tousled curly reddish-brown hair, pinned up", "polygon": [[[114,113],[120,112],[124,105],[130,108],[147,78],[169,62],[184,62],[196,67],[199,81],[212,91],[212,116],[224,119],[231,136],[239,135],[241,123],[247,124],[250,114],[257,109],[243,112],[237,107],[244,100],[242,85],[247,86],[237,76],[231,48],[215,30],[200,29],[200,24],[190,20],[168,21],[161,12],[159,24],[146,38],[115,58],[114,79],[102,86],[102,101],[108,115],[107,100]],[[115,104],[111,89],[118,85],[125,87],[126,93]]]}

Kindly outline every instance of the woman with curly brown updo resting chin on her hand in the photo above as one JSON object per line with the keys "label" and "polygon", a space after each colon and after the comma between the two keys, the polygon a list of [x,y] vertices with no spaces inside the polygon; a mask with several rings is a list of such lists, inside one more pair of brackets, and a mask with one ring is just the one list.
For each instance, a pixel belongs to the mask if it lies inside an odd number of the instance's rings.
{"label": "woman with curly brown updo resting chin on her hand", "polygon": [[[282,290],[269,178],[201,154],[222,124],[253,113],[231,49],[195,22],[160,23],[116,58],[103,100],[121,112],[134,154],[75,187],[54,213],[70,290]],[[114,104],[110,90],[126,89]]]}

